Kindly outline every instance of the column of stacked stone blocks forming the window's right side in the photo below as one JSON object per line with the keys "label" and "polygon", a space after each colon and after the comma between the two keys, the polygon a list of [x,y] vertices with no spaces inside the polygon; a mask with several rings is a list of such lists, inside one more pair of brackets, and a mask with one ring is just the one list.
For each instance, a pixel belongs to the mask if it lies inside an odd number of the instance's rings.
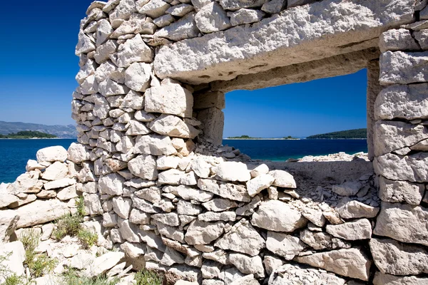
{"label": "column of stacked stone blocks forming the window's right side", "polygon": [[370,242],[379,270],[374,284],[428,283],[412,276],[428,271],[428,8],[419,20],[380,38],[374,167],[382,207]]}

